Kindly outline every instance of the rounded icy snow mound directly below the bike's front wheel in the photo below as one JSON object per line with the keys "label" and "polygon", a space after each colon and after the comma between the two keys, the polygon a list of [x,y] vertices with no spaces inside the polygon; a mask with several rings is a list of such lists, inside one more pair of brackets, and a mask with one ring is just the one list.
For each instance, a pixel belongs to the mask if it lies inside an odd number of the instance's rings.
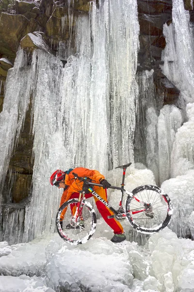
{"label": "rounded icy snow mound directly below the bike's front wheel", "polygon": [[72,291],[77,284],[77,288],[83,286],[91,292],[127,292],[133,284],[125,245],[118,248],[109,241],[107,246],[102,239],[86,250],[71,248],[69,252],[69,246],[64,245],[50,258],[46,273],[54,289],[62,286]]}

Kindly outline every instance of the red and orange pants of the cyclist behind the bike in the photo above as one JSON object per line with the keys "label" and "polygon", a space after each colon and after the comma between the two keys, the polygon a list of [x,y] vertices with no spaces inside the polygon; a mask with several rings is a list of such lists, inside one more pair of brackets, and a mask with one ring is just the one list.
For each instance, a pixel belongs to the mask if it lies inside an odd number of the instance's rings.
{"label": "red and orange pants of the cyclist behind the bike", "polygon": [[[97,194],[104,200],[107,202],[107,192],[106,189],[103,189],[102,187],[95,187],[95,192],[97,192]],[[71,199],[78,199],[79,198],[79,193],[73,193],[71,195],[71,197],[69,198],[69,200]],[[92,194],[85,194],[85,198],[91,198],[93,197]],[[97,209],[99,211],[99,213],[101,214],[102,218],[105,220],[105,222],[113,229],[114,234],[122,234],[124,233],[123,231],[123,227],[120,224],[119,221],[117,221],[114,218],[108,219],[108,216],[113,215],[113,212],[107,208],[101,201],[99,201],[96,197],[94,197],[94,200],[96,202],[97,205]],[[73,204],[72,204],[73,207]],[[64,218],[66,209],[63,210],[62,214],[61,214],[61,218]]]}

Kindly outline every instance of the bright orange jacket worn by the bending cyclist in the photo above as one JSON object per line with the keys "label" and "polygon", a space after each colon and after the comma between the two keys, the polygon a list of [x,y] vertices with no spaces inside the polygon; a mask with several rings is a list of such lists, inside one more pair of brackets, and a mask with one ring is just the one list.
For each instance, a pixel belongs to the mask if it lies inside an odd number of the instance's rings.
{"label": "bright orange jacket worn by the bending cyclist", "polygon": [[97,170],[90,170],[83,167],[74,168],[69,174],[65,175],[65,184],[69,187],[63,192],[60,207],[64,202],[69,200],[73,193],[79,193],[82,189],[83,182],[80,182],[78,179],[75,181],[72,172],[76,173],[79,177],[90,178],[95,181],[94,183],[100,183],[99,180],[104,179],[104,176]]}

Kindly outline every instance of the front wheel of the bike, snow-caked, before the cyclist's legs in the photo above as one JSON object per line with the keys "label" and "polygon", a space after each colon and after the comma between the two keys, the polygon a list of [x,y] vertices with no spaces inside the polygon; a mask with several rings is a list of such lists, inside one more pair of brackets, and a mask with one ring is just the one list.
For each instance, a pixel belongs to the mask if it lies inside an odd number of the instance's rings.
{"label": "front wheel of the bike, snow-caked, before the cyclist's legs", "polygon": [[[56,227],[57,231],[65,242],[72,245],[85,243],[95,233],[97,218],[91,204],[87,201],[81,201],[79,208],[79,217],[77,222],[72,214],[72,207],[77,208],[77,199],[66,201],[57,212]],[[63,220],[63,228],[60,224],[60,216],[63,210],[66,210]]]}

